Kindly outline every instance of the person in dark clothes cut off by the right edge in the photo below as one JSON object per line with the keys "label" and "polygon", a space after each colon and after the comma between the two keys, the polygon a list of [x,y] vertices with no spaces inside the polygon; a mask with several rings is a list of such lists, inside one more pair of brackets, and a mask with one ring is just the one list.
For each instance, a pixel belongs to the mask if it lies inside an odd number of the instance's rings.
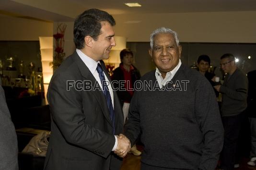
{"label": "person in dark clothes cut off by the right edge", "polygon": [[256,70],[247,74],[248,78],[248,106],[246,113],[249,116],[249,122],[251,127],[251,153],[250,161],[248,165],[256,165]]}

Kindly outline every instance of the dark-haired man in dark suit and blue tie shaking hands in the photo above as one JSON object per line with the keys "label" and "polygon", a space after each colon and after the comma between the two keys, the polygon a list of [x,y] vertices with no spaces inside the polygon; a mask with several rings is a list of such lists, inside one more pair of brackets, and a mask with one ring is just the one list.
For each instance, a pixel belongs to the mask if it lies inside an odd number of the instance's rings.
{"label": "dark-haired man in dark suit and blue tie shaking hands", "polygon": [[[130,149],[124,117],[102,59],[116,45],[114,18],[84,11],[74,23],[76,51],[55,71],[47,92],[51,137],[45,170],[119,170]],[[107,83],[105,83],[107,82]]]}

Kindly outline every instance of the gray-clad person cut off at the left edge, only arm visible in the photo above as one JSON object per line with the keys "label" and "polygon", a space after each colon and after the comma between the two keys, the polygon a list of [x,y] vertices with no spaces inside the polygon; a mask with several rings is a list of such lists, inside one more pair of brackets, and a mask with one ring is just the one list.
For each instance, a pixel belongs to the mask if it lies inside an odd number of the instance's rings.
{"label": "gray-clad person cut off at the left edge, only arm visible", "polygon": [[0,170],[18,170],[18,144],[0,79]]}

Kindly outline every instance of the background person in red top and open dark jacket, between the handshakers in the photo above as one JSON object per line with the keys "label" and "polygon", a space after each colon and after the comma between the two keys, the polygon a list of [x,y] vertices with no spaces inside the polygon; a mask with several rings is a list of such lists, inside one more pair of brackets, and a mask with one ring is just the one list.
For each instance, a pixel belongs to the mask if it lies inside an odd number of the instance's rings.
{"label": "background person in red top and open dark jacket, between the handshakers", "polygon": [[[120,52],[120,60],[121,63],[119,67],[113,71],[112,80],[118,82],[124,81],[124,89],[118,89],[117,96],[123,107],[124,122],[126,122],[130,101],[134,93],[134,83],[140,79],[140,71],[132,64],[133,53],[130,49],[123,49]],[[115,85],[115,88],[118,87],[118,84],[113,85]],[[141,155],[141,152],[137,149],[136,145],[133,145],[129,153],[132,153],[135,156]]]}

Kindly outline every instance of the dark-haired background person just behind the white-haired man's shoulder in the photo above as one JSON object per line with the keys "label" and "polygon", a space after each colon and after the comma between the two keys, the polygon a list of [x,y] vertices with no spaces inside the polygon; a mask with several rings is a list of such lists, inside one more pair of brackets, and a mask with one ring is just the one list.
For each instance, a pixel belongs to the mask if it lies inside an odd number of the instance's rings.
{"label": "dark-haired background person just behind the white-haired man's shoulder", "polygon": [[[208,55],[200,55],[198,57],[198,71],[199,73],[203,74],[208,81],[210,82],[210,84],[213,86],[215,86],[215,74],[210,73],[209,70],[210,67],[210,57]],[[214,89],[214,88],[213,88]],[[217,90],[214,89],[214,92],[216,94],[216,96],[219,96],[219,92],[217,92]]]}

